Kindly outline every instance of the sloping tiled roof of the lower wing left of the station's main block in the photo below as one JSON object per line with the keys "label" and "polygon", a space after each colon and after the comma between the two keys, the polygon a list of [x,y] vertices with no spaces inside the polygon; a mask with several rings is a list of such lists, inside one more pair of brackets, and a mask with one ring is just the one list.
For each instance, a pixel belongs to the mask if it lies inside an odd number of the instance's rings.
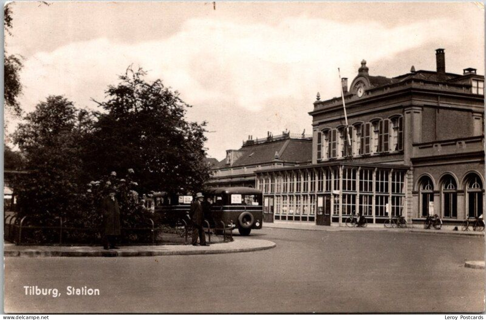
{"label": "sloping tiled roof of the lower wing left of the station's main block", "polygon": [[[233,161],[231,167],[250,166],[273,161],[306,162],[312,160],[312,140],[285,139],[272,142],[243,146],[237,152],[242,155]],[[278,159],[275,159],[275,154]],[[228,168],[226,159],[220,161],[213,169]]]}

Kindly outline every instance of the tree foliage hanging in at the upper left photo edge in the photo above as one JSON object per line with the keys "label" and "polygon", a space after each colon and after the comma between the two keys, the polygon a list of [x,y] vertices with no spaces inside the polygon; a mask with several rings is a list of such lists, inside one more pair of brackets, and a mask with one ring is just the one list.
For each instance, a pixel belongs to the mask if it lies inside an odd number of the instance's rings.
{"label": "tree foliage hanging in at the upper left photo edge", "polygon": [[[4,19],[3,26],[5,32],[12,35],[12,12],[10,10],[10,4],[3,7]],[[13,111],[17,116],[21,113],[21,108],[18,103],[18,96],[22,93],[22,84],[20,83],[20,70],[22,69],[22,61],[20,57],[15,54],[7,54],[6,44],[5,48],[5,60],[3,69],[4,91],[3,98],[5,100],[5,106]]]}

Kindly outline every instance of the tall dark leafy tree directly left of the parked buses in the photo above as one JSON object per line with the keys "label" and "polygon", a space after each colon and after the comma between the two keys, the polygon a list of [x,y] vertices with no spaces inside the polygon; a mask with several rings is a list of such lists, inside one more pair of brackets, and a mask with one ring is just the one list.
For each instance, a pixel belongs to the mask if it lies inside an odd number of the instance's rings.
{"label": "tall dark leafy tree directly left of the parked buses", "polygon": [[98,114],[87,148],[91,175],[132,168],[142,192],[200,190],[208,178],[205,123],[187,121],[190,106],[179,93],[145,75],[129,67],[97,102],[105,112]]}

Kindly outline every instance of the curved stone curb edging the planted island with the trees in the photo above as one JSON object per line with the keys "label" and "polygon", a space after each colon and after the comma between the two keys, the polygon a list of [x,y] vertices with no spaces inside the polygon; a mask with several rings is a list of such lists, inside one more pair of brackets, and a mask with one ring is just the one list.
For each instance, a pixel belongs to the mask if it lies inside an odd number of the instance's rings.
{"label": "curved stone curb edging the planted island with the trees", "polygon": [[[237,240],[238,241],[238,240]],[[241,240],[240,240],[241,241]],[[242,242],[250,242],[248,240]],[[246,248],[232,248],[232,249],[175,249],[169,250],[168,246],[160,246],[159,249],[148,250],[132,250],[132,249],[117,249],[117,250],[103,250],[103,249],[89,249],[84,251],[76,251],[75,249],[52,248],[52,250],[5,250],[4,257],[20,257],[20,258],[35,258],[35,257],[147,257],[147,256],[168,256],[168,255],[199,255],[199,254],[222,254],[222,253],[236,253],[236,252],[250,252],[260,251],[275,248],[277,245],[268,240],[258,240],[259,245],[248,245]],[[231,242],[230,244],[234,244]],[[244,245],[244,244],[243,244]],[[178,247],[178,246],[177,246]],[[132,247],[133,248],[133,247]]]}

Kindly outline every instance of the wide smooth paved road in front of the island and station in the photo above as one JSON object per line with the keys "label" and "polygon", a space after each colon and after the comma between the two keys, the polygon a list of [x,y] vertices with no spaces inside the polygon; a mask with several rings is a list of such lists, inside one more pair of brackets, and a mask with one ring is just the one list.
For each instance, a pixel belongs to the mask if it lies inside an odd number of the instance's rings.
{"label": "wide smooth paved road in front of the island and station", "polygon": [[[203,256],[6,258],[7,312],[480,312],[484,240],[263,229],[277,248]],[[24,285],[60,297],[24,295]],[[100,289],[67,296],[66,287]]]}

